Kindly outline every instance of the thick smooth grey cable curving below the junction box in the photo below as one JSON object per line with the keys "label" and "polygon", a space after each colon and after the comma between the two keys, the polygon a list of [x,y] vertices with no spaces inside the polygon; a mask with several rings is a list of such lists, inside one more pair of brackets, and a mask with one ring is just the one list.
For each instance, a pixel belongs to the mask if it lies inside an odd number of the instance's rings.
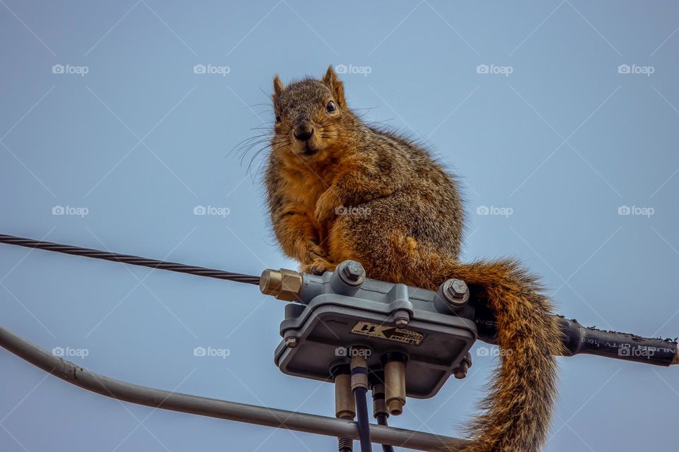
{"label": "thick smooth grey cable curving below the junction box", "polygon": [[[72,362],[52,356],[49,352],[2,326],[0,326],[0,346],[64,381],[117,400],[296,432],[359,439],[356,423],[348,420],[173,393],[110,379],[108,376],[95,374]],[[439,436],[376,424],[370,425],[370,434],[372,441],[376,443],[419,451],[454,452],[469,444],[468,441],[451,436]]]}

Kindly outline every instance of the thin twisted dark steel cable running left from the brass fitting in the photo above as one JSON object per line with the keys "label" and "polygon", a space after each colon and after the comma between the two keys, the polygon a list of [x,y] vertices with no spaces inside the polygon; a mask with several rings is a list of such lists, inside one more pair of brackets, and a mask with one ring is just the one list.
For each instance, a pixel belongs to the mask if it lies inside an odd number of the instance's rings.
{"label": "thin twisted dark steel cable running left from the brass fitting", "polygon": [[100,251],[98,249],[81,248],[80,246],[41,242],[40,240],[33,239],[23,239],[22,237],[15,237],[13,235],[0,234],[0,243],[25,246],[27,248],[44,249],[46,251],[55,251],[57,253],[72,254],[74,256],[103,259],[105,261],[127,263],[132,266],[159,268],[161,270],[174,271],[177,273],[188,273],[190,275],[205,276],[207,278],[236,281],[236,283],[254,285],[259,285],[260,283],[259,276],[243,275],[242,273],[231,273],[224,270],[214,270],[212,268],[187,266],[183,263],[157,261],[156,259],[147,259],[139,256],[131,256],[129,254],[111,253],[108,251]]}

